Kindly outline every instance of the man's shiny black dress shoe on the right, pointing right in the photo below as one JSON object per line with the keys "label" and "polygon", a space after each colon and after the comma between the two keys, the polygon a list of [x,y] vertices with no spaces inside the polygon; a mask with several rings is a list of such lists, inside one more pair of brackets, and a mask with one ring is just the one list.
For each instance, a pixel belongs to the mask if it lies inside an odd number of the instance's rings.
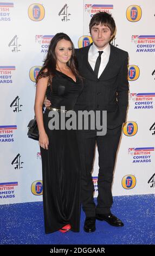
{"label": "man's shiny black dress shoe on the right, pointing right", "polygon": [[116,216],[114,216],[113,214],[96,214],[96,219],[99,221],[106,221],[108,222],[110,225],[115,226],[115,227],[123,227],[124,224],[122,223],[121,220],[119,220],[119,218],[117,218]]}

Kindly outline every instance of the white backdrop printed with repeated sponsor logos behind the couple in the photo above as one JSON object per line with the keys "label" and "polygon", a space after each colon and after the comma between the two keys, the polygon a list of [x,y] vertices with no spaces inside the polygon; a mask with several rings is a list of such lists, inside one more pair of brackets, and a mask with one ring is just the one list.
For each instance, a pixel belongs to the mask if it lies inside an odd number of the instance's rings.
{"label": "white backdrop printed with repeated sponsor logos behind the couple", "polygon": [[[129,107],[115,164],[113,196],[154,193],[154,7],[154,0],[0,2],[0,204],[42,200],[40,148],[27,137],[27,125],[34,118],[35,77],[57,32],[67,33],[76,48],[91,44],[89,21],[98,11],[113,15],[117,33],[112,44],[130,56]],[[97,148],[92,176],[96,197]]]}

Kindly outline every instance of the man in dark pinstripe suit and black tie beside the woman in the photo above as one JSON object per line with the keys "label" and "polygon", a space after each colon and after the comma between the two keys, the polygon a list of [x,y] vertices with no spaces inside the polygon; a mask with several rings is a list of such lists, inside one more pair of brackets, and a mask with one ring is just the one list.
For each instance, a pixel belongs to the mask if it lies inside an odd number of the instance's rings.
{"label": "man in dark pinstripe suit and black tie beside the woman", "polygon": [[[91,233],[95,231],[96,219],[115,227],[124,225],[111,213],[111,206],[115,157],[128,105],[128,53],[109,44],[115,32],[115,22],[110,14],[95,14],[89,23],[89,31],[93,43],[76,49],[84,88],[76,102],[75,111],[107,111],[105,136],[98,136],[97,131],[91,129],[77,131],[82,166],[81,200],[86,214],[84,230]],[[47,101],[45,105],[49,106]],[[93,198],[91,174],[96,144],[99,153],[97,205]]]}

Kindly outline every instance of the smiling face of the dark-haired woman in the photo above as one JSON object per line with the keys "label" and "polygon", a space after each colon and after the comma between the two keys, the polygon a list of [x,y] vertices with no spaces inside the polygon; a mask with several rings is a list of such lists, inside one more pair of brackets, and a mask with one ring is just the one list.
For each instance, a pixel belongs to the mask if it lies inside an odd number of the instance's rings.
{"label": "smiling face of the dark-haired woman", "polygon": [[72,44],[66,39],[61,39],[55,47],[56,63],[66,64],[72,56]]}

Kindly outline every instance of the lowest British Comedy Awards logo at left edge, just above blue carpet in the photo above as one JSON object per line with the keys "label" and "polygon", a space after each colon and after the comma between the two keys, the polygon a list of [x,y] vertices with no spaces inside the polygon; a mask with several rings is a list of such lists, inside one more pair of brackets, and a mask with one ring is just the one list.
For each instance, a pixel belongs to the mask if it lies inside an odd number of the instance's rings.
{"label": "lowest British Comedy Awards logo at left edge, just above blue carpet", "polygon": [[15,198],[16,186],[18,186],[18,182],[0,183],[0,199]]}

